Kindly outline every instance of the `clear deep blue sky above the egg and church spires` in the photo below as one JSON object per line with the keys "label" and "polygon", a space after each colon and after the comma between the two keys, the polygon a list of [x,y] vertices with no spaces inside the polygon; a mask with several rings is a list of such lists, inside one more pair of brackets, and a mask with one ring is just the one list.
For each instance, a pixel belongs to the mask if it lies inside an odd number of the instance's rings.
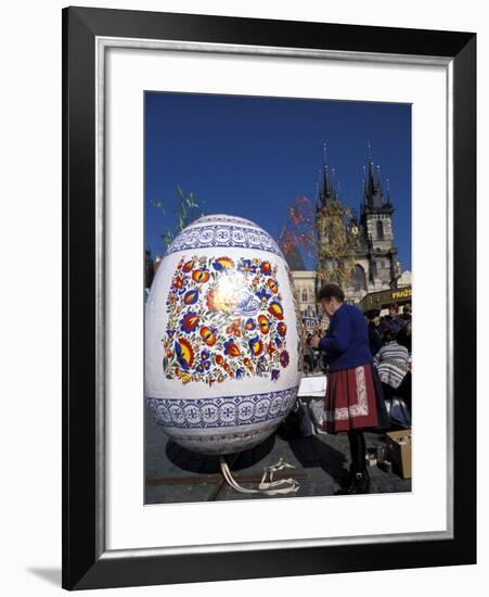
{"label": "clear deep blue sky above the egg and church spires", "polygon": [[389,179],[399,259],[411,269],[410,105],[145,92],[146,247],[164,254],[178,186],[205,214],[241,215],[278,238],[287,205],[298,195],[316,202],[323,143],[344,203],[359,211],[368,141],[384,190]]}

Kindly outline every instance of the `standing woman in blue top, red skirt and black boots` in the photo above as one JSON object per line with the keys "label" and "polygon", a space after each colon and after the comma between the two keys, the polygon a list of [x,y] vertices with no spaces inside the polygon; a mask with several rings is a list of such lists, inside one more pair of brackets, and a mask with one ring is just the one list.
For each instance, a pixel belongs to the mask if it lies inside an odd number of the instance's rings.
{"label": "standing woman in blue top, red skirt and black boots", "polygon": [[330,318],[326,336],[311,340],[329,361],[324,430],[346,432],[351,453],[350,484],[336,493],[369,493],[363,430],[377,427],[379,416],[366,321],[357,307],[345,303],[337,284],[326,284],[318,302]]}

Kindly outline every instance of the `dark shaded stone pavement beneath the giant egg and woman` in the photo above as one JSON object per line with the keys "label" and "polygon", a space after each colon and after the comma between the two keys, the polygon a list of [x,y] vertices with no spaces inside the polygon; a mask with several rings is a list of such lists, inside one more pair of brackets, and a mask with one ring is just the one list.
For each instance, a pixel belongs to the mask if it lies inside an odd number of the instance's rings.
{"label": "dark shaded stone pavement beneath the giant egg and woman", "polygon": [[[384,443],[382,433],[365,433],[366,447]],[[243,494],[224,481],[215,456],[204,456],[188,450],[164,433],[146,411],[145,428],[145,504],[169,504],[229,499],[270,499],[263,494]],[[300,484],[297,493],[276,495],[273,498],[327,496],[339,488],[349,466],[346,434],[314,434],[300,437],[279,431],[259,446],[228,457],[228,462],[240,484],[256,487],[263,468],[282,457],[295,469],[284,469],[284,477],[293,477]],[[369,467],[371,493],[410,492],[411,480],[394,472]]]}

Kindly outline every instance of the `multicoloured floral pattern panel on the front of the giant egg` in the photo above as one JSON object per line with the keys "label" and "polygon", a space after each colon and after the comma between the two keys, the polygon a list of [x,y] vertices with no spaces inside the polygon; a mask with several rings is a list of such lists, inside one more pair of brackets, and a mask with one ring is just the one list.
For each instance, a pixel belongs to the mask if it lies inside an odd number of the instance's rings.
{"label": "multicoloured floral pattern panel on the front of the giant egg", "polygon": [[278,265],[260,258],[183,256],[167,298],[163,370],[183,384],[267,378],[288,367]]}

